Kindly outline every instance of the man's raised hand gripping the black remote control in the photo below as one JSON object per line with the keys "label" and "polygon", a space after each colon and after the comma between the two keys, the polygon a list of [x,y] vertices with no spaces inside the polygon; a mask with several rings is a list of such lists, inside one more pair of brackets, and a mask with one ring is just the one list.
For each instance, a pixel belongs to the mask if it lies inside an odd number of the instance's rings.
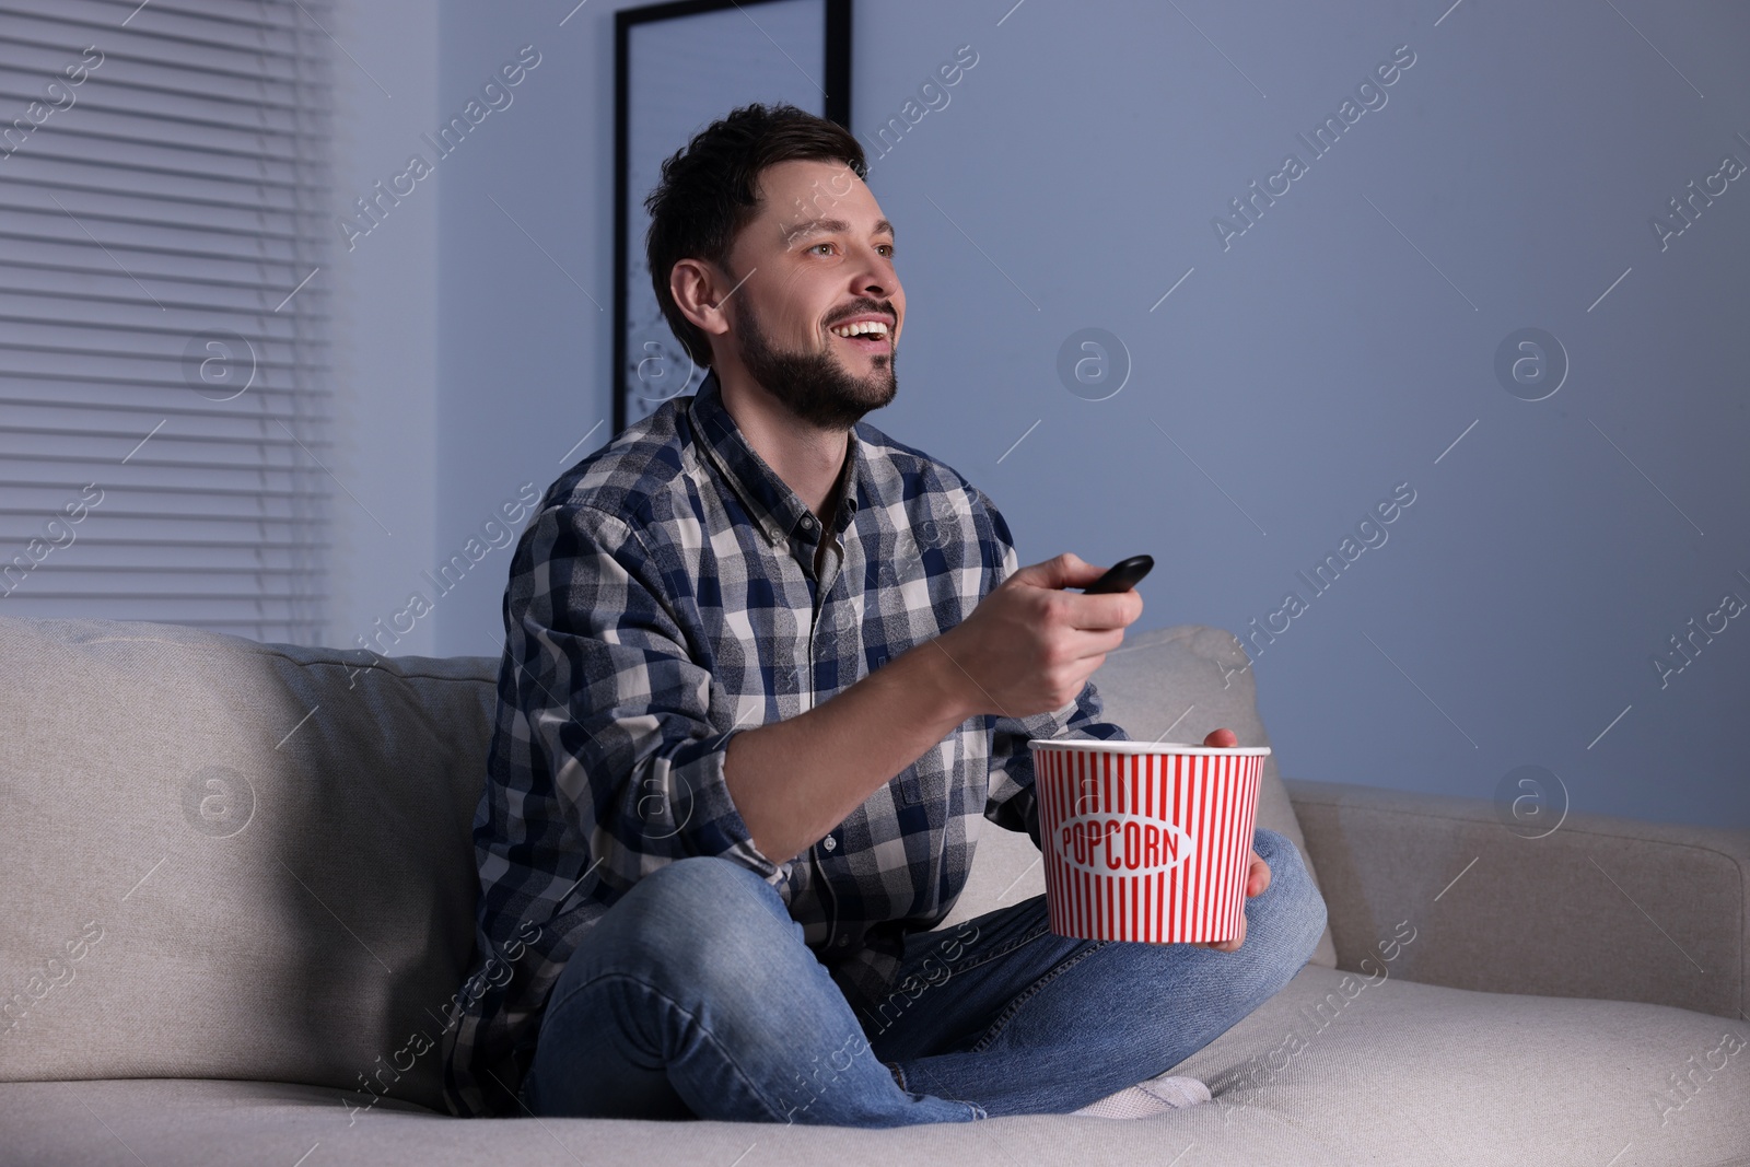
{"label": "man's raised hand gripping the black remote control", "polygon": [[1132,591],[1083,595],[1104,574],[1066,551],[1022,567],[987,595],[973,614],[936,637],[957,665],[966,703],[976,714],[1031,717],[1069,705],[1124,630],[1143,614]]}

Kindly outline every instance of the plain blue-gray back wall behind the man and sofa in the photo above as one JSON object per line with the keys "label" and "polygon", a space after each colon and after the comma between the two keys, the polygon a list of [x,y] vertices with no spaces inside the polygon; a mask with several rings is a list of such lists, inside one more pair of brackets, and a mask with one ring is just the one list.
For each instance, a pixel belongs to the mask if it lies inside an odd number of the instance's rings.
{"label": "plain blue-gray back wall behind the man and sofa", "polygon": [[[434,121],[541,52],[439,178],[439,558],[609,439],[614,7],[439,5]],[[866,142],[978,54],[873,159],[910,313],[870,422],[989,492],[1024,562],[1152,553],[1141,628],[1283,612],[1255,672],[1288,777],[1493,798],[1542,766],[1549,815],[1750,824],[1750,619],[1670,644],[1750,600],[1750,178],[1710,178],[1750,163],[1750,14],[1332,7],[864,0]],[[1323,156],[1297,138],[1344,114]],[[1726,189],[1661,240],[1690,180]],[[1496,374],[1528,327],[1570,366],[1542,401]],[[1082,329],[1122,343],[1118,392],[1060,378]],[[499,651],[508,565],[443,598],[436,651]]]}

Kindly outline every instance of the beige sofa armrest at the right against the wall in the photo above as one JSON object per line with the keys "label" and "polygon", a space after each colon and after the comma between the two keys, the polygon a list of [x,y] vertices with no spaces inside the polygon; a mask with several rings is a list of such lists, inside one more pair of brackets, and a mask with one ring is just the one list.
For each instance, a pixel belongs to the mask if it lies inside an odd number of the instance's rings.
{"label": "beige sofa armrest at the right against the wall", "polygon": [[1570,812],[1526,838],[1484,800],[1284,784],[1342,969],[1750,1011],[1750,831]]}

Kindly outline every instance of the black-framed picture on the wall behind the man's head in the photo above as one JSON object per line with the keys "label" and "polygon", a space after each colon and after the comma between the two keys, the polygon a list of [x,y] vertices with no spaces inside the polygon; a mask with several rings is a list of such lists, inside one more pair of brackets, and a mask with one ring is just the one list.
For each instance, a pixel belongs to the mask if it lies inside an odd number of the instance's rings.
{"label": "black-framed picture on the wall behind the man's head", "polygon": [[698,388],[656,306],[644,198],[693,135],[751,101],[850,128],[850,0],[677,0],[614,14],[614,432]]}

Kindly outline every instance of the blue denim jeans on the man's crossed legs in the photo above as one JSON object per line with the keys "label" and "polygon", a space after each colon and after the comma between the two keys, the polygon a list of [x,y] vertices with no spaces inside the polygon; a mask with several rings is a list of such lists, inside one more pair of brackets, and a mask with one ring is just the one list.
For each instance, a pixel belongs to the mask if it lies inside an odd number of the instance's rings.
{"label": "blue denim jeans on the man's crossed legs", "polygon": [[548,1116],[840,1127],[1080,1109],[1220,1038],[1312,954],[1325,901],[1300,854],[1253,840],[1270,885],[1237,952],[1069,940],[1034,896],[910,934],[908,990],[880,1003],[845,997],[751,870],[679,859],[572,954],[520,1097]]}

